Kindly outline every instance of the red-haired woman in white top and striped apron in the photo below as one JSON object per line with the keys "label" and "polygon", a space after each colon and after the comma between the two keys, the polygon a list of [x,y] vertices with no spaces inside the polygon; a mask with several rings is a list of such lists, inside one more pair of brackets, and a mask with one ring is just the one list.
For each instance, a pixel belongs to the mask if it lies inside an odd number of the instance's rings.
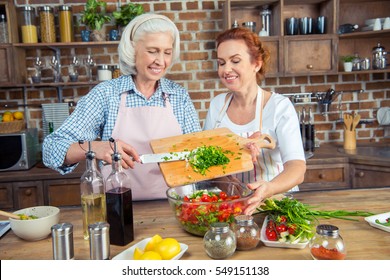
{"label": "red-haired woman in white top and striped apron", "polygon": [[258,85],[266,73],[269,54],[257,34],[247,28],[227,30],[217,37],[218,75],[229,90],[210,103],[204,129],[228,127],[243,136],[271,135],[274,150],[254,151],[254,169],[236,176],[255,190],[246,213],[272,195],[300,184],[306,171],[299,122],[294,106],[283,95]]}

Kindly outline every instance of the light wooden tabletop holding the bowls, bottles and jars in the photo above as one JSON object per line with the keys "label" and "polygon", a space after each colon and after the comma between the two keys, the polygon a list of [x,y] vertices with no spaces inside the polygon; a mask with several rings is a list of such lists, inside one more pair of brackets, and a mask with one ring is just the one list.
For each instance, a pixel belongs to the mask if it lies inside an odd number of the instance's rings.
{"label": "light wooden tabletop holding the bowls, bottles and jars", "polygon": [[[390,212],[390,189],[355,189],[326,192],[301,192],[294,198],[303,203],[318,205],[321,210],[366,210],[375,214]],[[134,203],[135,240],[127,246],[111,246],[111,257],[154,234],[174,237],[189,246],[182,259],[210,259],[204,249],[201,237],[193,236],[181,229],[166,200]],[[264,217],[257,215],[255,220],[262,225]],[[359,221],[339,219],[321,220],[336,225],[347,246],[347,259],[389,260],[390,233],[371,227],[364,218]],[[89,259],[89,243],[82,237],[81,209],[61,208],[60,222],[70,222],[74,226],[75,259]],[[19,239],[9,231],[0,240],[1,260],[52,259],[51,237],[28,242]],[[308,246],[305,249],[285,249],[266,247],[262,243],[252,251],[236,251],[229,259],[264,260],[310,260]]]}

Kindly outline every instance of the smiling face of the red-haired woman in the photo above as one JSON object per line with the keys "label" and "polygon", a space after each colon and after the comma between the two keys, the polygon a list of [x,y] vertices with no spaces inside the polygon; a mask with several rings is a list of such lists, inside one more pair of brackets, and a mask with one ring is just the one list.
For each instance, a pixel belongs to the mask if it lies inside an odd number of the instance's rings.
{"label": "smiling face of the red-haired woman", "polygon": [[231,91],[242,91],[257,84],[256,73],[261,62],[252,61],[244,40],[227,40],[217,49],[218,75]]}

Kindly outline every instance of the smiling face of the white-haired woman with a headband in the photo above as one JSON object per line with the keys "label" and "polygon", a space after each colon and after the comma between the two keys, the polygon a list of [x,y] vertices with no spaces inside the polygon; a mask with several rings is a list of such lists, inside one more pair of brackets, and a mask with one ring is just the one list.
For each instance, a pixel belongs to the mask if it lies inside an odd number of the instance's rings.
{"label": "smiling face of the white-haired woman with a headband", "polygon": [[146,34],[136,43],[138,82],[157,82],[172,63],[173,37],[169,32]]}

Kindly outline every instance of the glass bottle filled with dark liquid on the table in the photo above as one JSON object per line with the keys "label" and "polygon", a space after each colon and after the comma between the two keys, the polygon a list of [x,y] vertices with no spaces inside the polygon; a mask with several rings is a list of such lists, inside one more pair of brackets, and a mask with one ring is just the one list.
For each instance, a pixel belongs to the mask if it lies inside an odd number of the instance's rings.
{"label": "glass bottle filled with dark liquid on the table", "polygon": [[129,177],[123,171],[122,156],[115,140],[112,171],[106,181],[107,221],[110,224],[110,244],[124,246],[134,240],[133,202]]}

